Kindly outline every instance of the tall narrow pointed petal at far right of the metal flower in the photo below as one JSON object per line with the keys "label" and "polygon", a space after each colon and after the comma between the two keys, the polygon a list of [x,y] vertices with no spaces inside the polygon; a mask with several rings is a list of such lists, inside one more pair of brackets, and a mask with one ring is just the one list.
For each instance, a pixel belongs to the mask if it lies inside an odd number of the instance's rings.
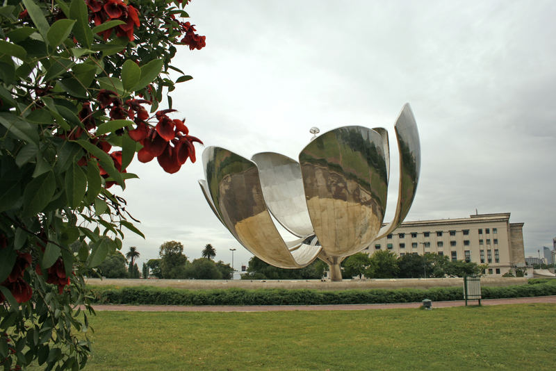
{"label": "tall narrow pointed petal at far right of the metal flower", "polygon": [[400,185],[398,192],[398,203],[395,207],[395,215],[389,224],[383,226],[377,240],[391,233],[402,224],[409,213],[409,208],[417,192],[419,172],[421,166],[421,149],[419,132],[411,107],[405,104],[402,112],[394,125],[395,135],[398,138],[398,150],[400,151]]}

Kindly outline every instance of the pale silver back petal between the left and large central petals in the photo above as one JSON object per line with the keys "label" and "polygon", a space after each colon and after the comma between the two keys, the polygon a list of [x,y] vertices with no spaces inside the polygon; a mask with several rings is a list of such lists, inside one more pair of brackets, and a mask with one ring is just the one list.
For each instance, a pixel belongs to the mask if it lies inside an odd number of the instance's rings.
{"label": "pale silver back petal between the left and large central petals", "polygon": [[263,197],[270,213],[295,236],[313,234],[305,204],[300,164],[274,152],[255,154],[252,160],[259,168]]}

